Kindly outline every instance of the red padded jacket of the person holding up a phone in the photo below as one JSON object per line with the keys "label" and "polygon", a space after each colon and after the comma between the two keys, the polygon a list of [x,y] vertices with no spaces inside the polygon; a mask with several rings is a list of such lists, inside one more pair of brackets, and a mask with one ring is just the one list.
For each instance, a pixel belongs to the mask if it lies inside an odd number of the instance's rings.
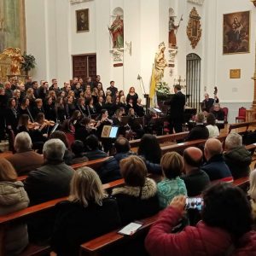
{"label": "red padded jacket of the person holding up a phone", "polygon": [[195,227],[188,226],[182,232],[171,234],[182,213],[168,207],[148,232],[145,246],[150,255],[256,255],[256,232],[251,231],[241,237],[233,253],[228,254],[232,245],[231,236],[225,230],[207,226],[202,221]]}

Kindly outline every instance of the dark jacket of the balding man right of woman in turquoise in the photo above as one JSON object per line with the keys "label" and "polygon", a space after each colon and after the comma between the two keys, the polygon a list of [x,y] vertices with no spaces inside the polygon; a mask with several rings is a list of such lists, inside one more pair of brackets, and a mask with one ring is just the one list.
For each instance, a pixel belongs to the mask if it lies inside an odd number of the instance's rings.
{"label": "dark jacket of the balding man right of woman in turquoise", "polygon": [[196,169],[193,173],[181,177],[186,185],[188,196],[200,195],[210,184],[210,178],[206,172]]}

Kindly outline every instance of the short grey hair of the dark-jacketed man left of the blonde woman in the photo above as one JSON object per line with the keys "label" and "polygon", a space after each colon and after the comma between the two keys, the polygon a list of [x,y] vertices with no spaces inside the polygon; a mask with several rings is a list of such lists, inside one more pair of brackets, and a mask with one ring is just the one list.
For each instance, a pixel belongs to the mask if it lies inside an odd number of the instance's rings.
{"label": "short grey hair of the dark-jacketed man left of the blonde woman", "polygon": [[63,160],[66,146],[60,139],[50,139],[44,143],[43,154],[46,160]]}

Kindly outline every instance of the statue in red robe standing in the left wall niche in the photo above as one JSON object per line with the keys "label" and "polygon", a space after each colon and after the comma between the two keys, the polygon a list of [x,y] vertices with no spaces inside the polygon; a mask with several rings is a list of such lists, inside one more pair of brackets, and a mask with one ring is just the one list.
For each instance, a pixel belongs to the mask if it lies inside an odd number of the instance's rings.
{"label": "statue in red robe standing in the left wall niche", "polygon": [[113,20],[108,30],[113,41],[113,48],[124,48],[124,21],[119,15]]}

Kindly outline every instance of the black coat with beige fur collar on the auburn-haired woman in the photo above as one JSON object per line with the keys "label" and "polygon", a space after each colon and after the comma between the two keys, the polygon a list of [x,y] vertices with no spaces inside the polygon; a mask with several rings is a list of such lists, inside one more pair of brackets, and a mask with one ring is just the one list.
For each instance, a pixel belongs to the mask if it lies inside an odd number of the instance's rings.
{"label": "black coat with beige fur collar on the auburn-haired woman", "polygon": [[112,195],[118,202],[122,224],[147,218],[160,210],[156,183],[150,178],[146,178],[142,188],[124,186],[113,189]]}

